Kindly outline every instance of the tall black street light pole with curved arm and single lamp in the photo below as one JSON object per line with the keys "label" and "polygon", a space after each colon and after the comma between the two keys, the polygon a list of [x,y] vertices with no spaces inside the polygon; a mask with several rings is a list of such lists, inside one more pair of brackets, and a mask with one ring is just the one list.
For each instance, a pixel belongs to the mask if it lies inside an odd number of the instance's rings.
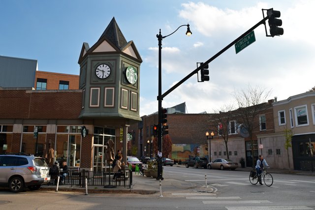
{"label": "tall black street light pole with curved arm and single lamp", "polygon": [[[175,33],[179,28],[187,26],[187,32],[186,35],[190,36],[192,32],[190,31],[189,24],[182,25],[178,27],[174,32],[168,34],[167,36],[172,35]],[[157,34],[158,38],[158,178],[157,180],[163,180],[162,177],[162,58],[161,58],[161,52],[162,52],[162,39],[166,38],[167,36],[162,36],[161,29],[159,30],[159,34]]]}

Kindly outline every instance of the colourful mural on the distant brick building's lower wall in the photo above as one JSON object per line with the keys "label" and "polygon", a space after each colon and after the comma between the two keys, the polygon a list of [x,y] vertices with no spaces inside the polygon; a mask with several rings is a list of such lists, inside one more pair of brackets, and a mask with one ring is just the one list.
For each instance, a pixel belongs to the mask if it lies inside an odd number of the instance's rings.
{"label": "colourful mural on the distant brick building's lower wall", "polygon": [[[199,149],[198,149],[199,148]],[[201,156],[208,157],[208,150],[206,145],[198,144],[174,144],[172,145],[172,157],[173,160],[185,161],[189,156]]]}

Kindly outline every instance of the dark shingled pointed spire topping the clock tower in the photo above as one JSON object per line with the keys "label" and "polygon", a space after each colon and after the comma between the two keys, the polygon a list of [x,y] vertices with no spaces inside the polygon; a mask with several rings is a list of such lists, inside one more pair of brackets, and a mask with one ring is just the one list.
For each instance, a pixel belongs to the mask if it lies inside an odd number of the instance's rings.
{"label": "dark shingled pointed spire topping the clock tower", "polygon": [[122,47],[125,46],[127,43],[124,34],[119,29],[116,23],[115,17],[113,17],[113,19],[111,20],[111,22],[104,30],[103,34],[100,36],[99,39],[101,39],[104,36],[119,49],[122,49]]}

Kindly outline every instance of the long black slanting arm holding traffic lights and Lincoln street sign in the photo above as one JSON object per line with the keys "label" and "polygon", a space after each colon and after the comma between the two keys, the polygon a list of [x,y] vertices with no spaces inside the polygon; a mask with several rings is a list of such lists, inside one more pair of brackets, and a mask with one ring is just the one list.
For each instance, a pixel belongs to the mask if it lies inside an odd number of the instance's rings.
{"label": "long black slanting arm holding traffic lights and Lincoln street sign", "polygon": [[266,24],[266,20],[268,20],[268,16],[263,18],[261,21],[259,21],[256,25],[254,25],[252,28],[250,28],[249,30],[247,30],[245,33],[243,33],[242,35],[240,35],[237,39],[235,39],[234,41],[232,41],[230,44],[228,44],[226,47],[224,47],[221,51],[219,51],[216,55],[214,55],[213,57],[211,57],[209,60],[205,61],[202,65],[200,65],[199,67],[197,67],[195,70],[193,70],[191,73],[189,73],[189,75],[187,75],[186,77],[184,77],[181,81],[179,81],[178,83],[176,83],[173,87],[171,87],[169,90],[167,90],[166,92],[164,92],[163,94],[161,94],[161,98],[158,98],[158,100],[163,100],[163,98],[168,95],[170,92],[172,92],[173,90],[175,90],[176,88],[178,88],[180,85],[182,85],[186,80],[188,80],[190,77],[192,77],[194,74],[198,73],[198,71],[202,68],[204,68],[206,65],[208,65],[211,61],[215,60],[216,58],[218,58],[222,53],[224,53],[227,49],[229,49],[230,47],[232,47],[234,44],[236,44],[236,42],[238,42],[239,40],[243,39],[247,34],[249,34],[252,30],[256,29],[259,25],[261,24]]}

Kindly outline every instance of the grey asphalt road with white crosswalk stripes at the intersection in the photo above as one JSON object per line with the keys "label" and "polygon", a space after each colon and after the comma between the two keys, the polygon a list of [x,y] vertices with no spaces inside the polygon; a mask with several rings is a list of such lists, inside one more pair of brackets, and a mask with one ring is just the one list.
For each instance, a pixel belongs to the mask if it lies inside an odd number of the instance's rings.
{"label": "grey asphalt road with white crosswalk stripes at the intersection", "polygon": [[[315,210],[315,177],[272,174],[274,183],[252,185],[249,172],[164,167],[164,178],[185,180],[195,188],[159,194],[89,194],[80,192],[0,189],[0,209],[5,210]],[[205,187],[205,174],[208,188]]]}

